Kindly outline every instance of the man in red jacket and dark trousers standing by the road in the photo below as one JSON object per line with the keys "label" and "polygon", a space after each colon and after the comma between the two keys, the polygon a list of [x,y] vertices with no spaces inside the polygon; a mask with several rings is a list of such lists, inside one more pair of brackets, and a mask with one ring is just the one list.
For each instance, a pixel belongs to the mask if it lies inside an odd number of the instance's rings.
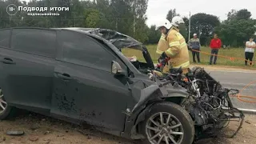
{"label": "man in red jacket and dark trousers standing by the road", "polygon": [[217,34],[214,34],[214,38],[210,41],[210,49],[211,49],[211,54],[212,54],[212,55],[210,55],[210,65],[213,62],[213,58],[214,58],[214,65],[216,65],[218,50],[221,47],[222,47],[221,39],[218,38]]}

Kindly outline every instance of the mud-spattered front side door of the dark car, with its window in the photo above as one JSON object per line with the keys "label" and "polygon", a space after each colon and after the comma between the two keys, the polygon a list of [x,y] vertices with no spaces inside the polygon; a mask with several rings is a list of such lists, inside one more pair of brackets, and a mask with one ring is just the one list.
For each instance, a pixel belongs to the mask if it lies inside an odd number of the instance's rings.
{"label": "mud-spattered front side door of the dark car, with its window", "polygon": [[126,120],[122,110],[131,98],[126,78],[111,74],[111,62],[118,58],[94,38],[73,31],[62,31],[60,46],[51,113],[122,131]]}

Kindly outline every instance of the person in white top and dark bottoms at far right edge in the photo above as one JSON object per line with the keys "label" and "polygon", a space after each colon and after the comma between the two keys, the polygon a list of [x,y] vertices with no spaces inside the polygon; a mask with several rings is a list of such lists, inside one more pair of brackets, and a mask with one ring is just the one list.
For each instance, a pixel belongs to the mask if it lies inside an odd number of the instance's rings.
{"label": "person in white top and dark bottoms at far right edge", "polygon": [[254,49],[256,48],[254,37],[250,37],[250,40],[246,42],[246,50],[245,50],[245,56],[246,61],[245,64],[247,66],[247,62],[250,61],[249,66],[252,66],[253,58],[254,58]]}

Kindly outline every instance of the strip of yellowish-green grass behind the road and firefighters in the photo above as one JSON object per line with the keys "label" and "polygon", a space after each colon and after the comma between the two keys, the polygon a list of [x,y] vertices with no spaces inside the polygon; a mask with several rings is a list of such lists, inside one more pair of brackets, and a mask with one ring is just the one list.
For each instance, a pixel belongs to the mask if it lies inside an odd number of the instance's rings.
{"label": "strip of yellowish-green grass behind the road and firefighters", "polygon": [[[156,51],[156,45],[149,45],[146,46],[147,49],[150,52],[151,58],[153,59],[154,63],[158,62],[159,55],[155,53]],[[217,59],[217,65],[218,66],[238,66],[238,67],[246,67],[245,66],[245,54],[244,54],[244,48],[229,48],[229,49],[221,49],[218,51],[218,59]],[[202,47],[201,51],[203,53],[210,53],[210,47]],[[125,54],[128,57],[136,56],[139,61],[145,62],[142,52],[140,50],[133,50],[133,49],[124,49],[122,50],[122,53]],[[210,62],[210,55],[209,54],[200,54],[201,59],[201,65],[209,65]],[[222,56],[228,57],[223,58]],[[230,58],[231,57],[231,58]],[[233,59],[234,58],[234,59]],[[192,54],[190,51],[190,62],[193,64],[192,60]],[[254,61],[256,62],[256,61]],[[256,68],[256,66],[251,66],[251,68]]]}

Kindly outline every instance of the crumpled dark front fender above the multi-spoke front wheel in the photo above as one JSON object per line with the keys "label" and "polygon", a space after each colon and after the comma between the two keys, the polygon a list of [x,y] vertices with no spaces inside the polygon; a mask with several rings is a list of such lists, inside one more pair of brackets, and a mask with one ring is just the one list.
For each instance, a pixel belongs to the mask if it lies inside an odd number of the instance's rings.
{"label": "crumpled dark front fender above the multi-spoke front wheel", "polygon": [[[188,97],[186,89],[178,86],[161,86],[157,83],[145,84],[143,81],[134,82],[130,86],[135,105],[132,110],[126,110],[124,114],[127,115],[125,132],[122,133],[122,137],[130,138],[131,135],[138,133],[138,124],[145,120],[147,112],[150,111],[150,106],[153,106],[158,102],[175,102],[174,99],[182,99]],[[179,104],[179,103],[178,103]],[[135,130],[135,131],[134,131]],[[134,133],[135,132],[135,133]],[[131,135],[130,135],[131,134]]]}

